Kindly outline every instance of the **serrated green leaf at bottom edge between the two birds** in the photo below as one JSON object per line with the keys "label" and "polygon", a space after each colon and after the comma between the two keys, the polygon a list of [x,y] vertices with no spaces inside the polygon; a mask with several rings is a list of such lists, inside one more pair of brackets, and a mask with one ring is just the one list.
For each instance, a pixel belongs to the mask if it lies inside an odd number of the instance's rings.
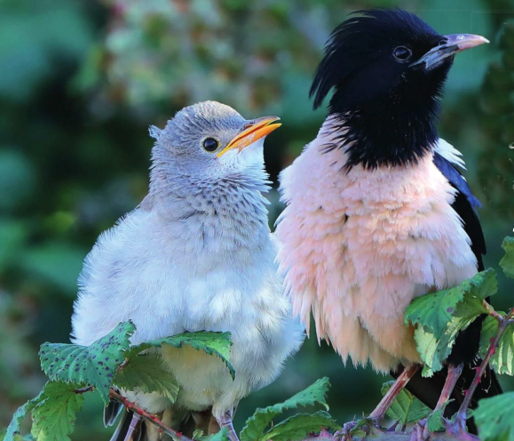
{"label": "serrated green leaf at bottom edge between the two birds", "polygon": [[329,387],[330,383],[328,378],[324,377],[283,403],[258,408],[257,411],[249,417],[244,428],[241,430],[241,441],[255,441],[256,439],[260,439],[264,434],[265,428],[273,421],[273,418],[285,410],[296,409],[300,405],[314,405],[316,403],[323,405],[325,409],[328,410],[327,392]]}

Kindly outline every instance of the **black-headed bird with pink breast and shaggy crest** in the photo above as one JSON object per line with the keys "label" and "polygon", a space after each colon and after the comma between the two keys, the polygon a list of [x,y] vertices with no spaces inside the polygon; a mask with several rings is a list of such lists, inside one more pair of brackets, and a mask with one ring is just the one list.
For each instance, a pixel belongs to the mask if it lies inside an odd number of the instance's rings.
{"label": "black-headed bird with pink breast and shaggy crest", "polygon": [[[479,362],[484,317],[459,334],[444,371],[423,378],[404,312],[484,269],[479,202],[437,124],[455,54],[485,43],[440,35],[400,9],[352,13],[312,82],[314,108],[332,92],[328,116],[280,175],[277,259],[294,313],[307,333],[312,313],[318,340],[344,361],[398,377],[369,415],[377,422],[406,383],[432,409],[455,399],[445,414],[455,413]],[[488,370],[473,405],[500,392]],[[472,421],[468,429],[476,431]]]}

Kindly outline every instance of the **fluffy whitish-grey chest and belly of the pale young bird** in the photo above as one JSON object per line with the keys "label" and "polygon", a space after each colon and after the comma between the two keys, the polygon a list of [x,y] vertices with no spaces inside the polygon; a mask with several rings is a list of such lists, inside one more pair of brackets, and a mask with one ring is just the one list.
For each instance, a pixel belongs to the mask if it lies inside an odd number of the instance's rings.
{"label": "fluffy whitish-grey chest and belly of the pale young bird", "polygon": [[[219,227],[200,219],[169,222],[155,212],[130,213],[88,255],[73,318],[80,344],[128,319],[137,327],[132,343],[186,331],[232,333],[236,381],[217,357],[194,349],[162,350],[182,388],[178,405],[195,410],[214,405],[217,416],[273,381],[303,340],[277,275],[267,224],[248,231]],[[253,241],[242,240],[247,234]],[[148,397],[152,412],[163,405]]]}

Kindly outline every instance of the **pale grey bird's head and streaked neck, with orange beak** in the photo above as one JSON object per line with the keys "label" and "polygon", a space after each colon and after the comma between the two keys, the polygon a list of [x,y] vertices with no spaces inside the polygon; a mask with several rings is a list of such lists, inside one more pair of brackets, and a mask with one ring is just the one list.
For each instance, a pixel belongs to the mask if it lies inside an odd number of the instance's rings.
{"label": "pale grey bird's head and streaked neck, with orange beak", "polygon": [[278,119],[248,120],[206,101],[183,108],[162,130],[152,126],[150,192],[142,207],[173,219],[226,216],[231,227],[255,228],[256,220],[267,226],[263,144]]}

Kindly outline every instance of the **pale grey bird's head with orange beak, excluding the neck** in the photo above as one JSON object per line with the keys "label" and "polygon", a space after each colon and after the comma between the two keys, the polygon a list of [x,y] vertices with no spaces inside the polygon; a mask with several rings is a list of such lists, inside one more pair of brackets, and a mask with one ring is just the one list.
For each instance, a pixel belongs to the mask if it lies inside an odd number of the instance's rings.
{"label": "pale grey bird's head with orange beak, excluding the neck", "polygon": [[[225,104],[205,101],[180,110],[156,139],[154,171],[179,178],[220,180],[234,172],[263,166],[265,136],[281,124],[277,116],[248,120]],[[163,176],[160,176],[161,178]]]}

